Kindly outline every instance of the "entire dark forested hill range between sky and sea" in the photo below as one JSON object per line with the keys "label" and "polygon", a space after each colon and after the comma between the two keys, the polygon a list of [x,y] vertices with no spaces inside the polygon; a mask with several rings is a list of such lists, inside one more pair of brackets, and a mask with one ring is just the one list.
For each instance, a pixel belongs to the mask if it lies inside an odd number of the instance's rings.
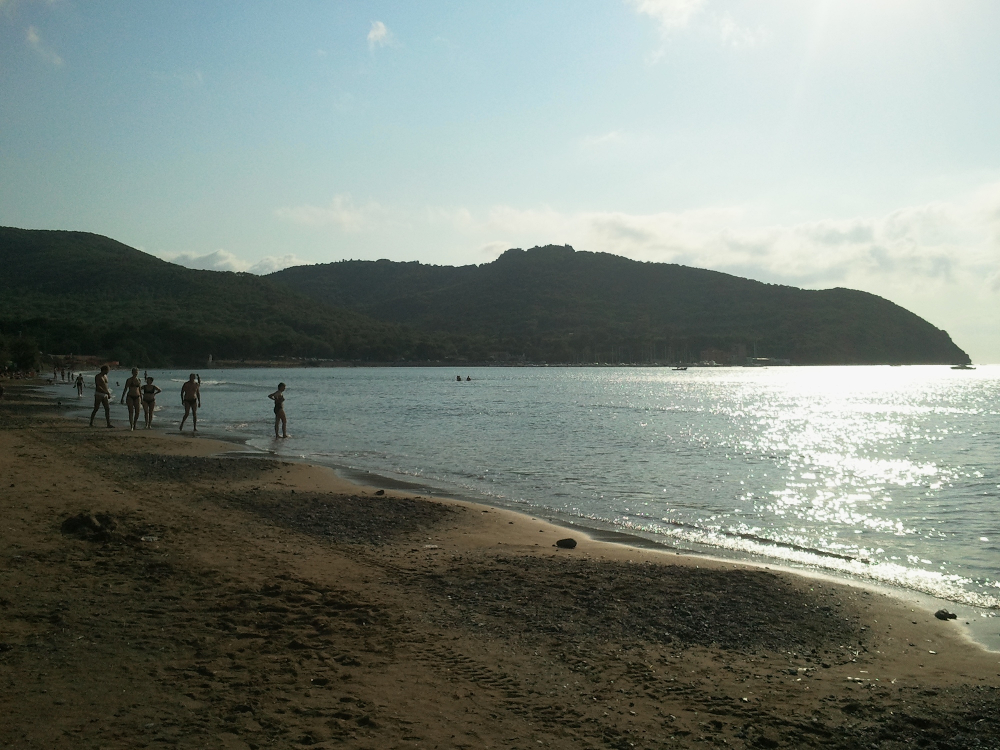
{"label": "entire dark forested hill range between sky and sea", "polygon": [[[148,366],[356,362],[943,364],[968,355],[873,294],[803,290],[569,246],[491,263],[198,271],[87,232],[0,228],[0,336]],[[0,340],[0,350],[3,341]]]}

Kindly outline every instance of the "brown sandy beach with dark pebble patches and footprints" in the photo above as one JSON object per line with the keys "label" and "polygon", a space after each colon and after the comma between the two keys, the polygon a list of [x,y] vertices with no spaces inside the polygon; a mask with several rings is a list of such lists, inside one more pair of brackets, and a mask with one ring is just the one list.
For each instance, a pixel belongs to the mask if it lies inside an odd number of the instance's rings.
{"label": "brown sandy beach with dark pebble patches and footprints", "polygon": [[1000,747],[1000,654],[885,594],[0,419],[0,746]]}

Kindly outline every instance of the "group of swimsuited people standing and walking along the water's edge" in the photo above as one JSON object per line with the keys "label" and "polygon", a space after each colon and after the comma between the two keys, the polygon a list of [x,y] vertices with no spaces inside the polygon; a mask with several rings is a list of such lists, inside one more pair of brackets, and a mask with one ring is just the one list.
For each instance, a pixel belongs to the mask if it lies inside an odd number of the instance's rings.
{"label": "group of swimsuited people standing and walking along the water's edge", "polygon": [[[94,378],[94,410],[90,413],[90,426],[94,426],[94,417],[97,412],[104,409],[104,419],[108,427],[111,424],[111,386],[108,382],[108,373],[111,369],[107,365],[102,365],[100,372]],[[79,395],[83,395],[83,375],[77,376],[74,386]],[[146,429],[153,426],[153,412],[156,411],[156,396],[163,393],[162,389],[155,385],[149,373],[146,373],[146,382],[143,383],[139,377],[139,368],[132,368],[132,377],[125,381],[125,388],[122,390],[122,397],[119,403],[128,407],[129,430],[135,430],[139,424],[139,409],[142,408],[144,424]],[[278,390],[269,393],[267,396],[274,401],[274,436],[288,437],[288,419],[285,416],[285,384],[278,383]],[[198,431],[198,409],[201,408],[201,376],[191,373],[188,379],[181,386],[181,404],[184,406],[184,416],[181,418],[180,430],[184,430],[184,423],[191,417],[193,432]],[[278,434],[278,426],[281,426],[281,435]]]}

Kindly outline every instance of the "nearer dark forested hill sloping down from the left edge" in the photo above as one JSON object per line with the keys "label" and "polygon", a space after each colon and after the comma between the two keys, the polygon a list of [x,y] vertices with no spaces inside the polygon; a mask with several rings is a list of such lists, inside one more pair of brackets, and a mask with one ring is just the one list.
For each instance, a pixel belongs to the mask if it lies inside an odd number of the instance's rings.
{"label": "nearer dark forested hill sloping down from the left edge", "polygon": [[[335,309],[273,280],[195,271],[86,232],[0,228],[0,350],[137,366],[216,359],[392,361],[456,356],[448,336]],[[0,354],[3,352],[0,351]],[[0,366],[3,362],[0,362]]]}

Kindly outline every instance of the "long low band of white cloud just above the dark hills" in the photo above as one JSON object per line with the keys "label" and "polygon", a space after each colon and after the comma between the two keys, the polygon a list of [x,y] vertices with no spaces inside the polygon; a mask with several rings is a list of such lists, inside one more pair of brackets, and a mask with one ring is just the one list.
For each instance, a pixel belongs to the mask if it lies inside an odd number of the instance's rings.
{"label": "long low band of white cloud just above the dark hills", "polygon": [[881,216],[761,223],[743,206],[634,214],[548,206],[385,207],[338,195],[326,207],[279,208],[277,216],[354,234],[450,231],[486,247],[574,245],[636,260],[683,263],[804,286],[883,280],[893,284],[994,284],[1000,275],[1000,183],[963,198]]}

